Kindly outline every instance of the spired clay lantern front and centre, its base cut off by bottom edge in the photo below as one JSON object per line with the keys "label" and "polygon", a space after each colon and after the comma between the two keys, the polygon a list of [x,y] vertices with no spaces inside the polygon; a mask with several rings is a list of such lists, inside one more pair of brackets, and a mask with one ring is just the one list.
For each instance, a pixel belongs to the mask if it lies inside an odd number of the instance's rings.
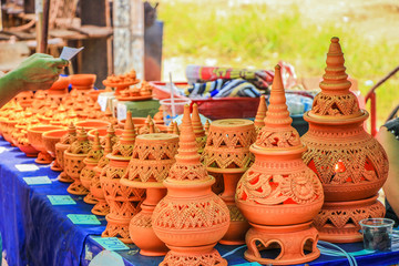
{"label": "spired clay lantern front and centre, its base cut off by bottom edge", "polygon": [[229,213],[211,191],[215,180],[200,162],[190,106],[184,106],[178,153],[164,181],[167,195],[156,205],[152,226],[171,249],[160,265],[218,265],[227,262],[214,248],[226,234]]}

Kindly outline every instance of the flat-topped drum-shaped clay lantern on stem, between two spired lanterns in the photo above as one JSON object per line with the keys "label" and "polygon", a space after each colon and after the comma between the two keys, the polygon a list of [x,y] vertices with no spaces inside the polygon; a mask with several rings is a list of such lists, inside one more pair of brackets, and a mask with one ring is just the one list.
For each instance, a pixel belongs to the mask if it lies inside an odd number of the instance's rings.
{"label": "flat-topped drum-shaped clay lantern on stem, between two spired lanterns", "polygon": [[224,245],[244,244],[245,234],[249,229],[249,224],[237,208],[234,196],[241,176],[254,161],[249,145],[255,139],[254,122],[249,120],[228,119],[211,123],[203,157],[206,170],[221,173],[224,178],[221,197],[231,212],[231,225],[221,241]]}

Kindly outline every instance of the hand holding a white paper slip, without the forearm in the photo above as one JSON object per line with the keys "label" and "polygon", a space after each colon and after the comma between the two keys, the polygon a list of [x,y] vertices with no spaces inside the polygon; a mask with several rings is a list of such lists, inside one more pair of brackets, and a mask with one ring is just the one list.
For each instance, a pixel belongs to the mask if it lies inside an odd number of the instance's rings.
{"label": "hand holding a white paper slip, without the forearm", "polygon": [[69,61],[54,59],[44,53],[34,53],[25,59],[16,70],[12,71],[14,79],[18,79],[22,88],[18,91],[47,90],[59,79],[63,68]]}

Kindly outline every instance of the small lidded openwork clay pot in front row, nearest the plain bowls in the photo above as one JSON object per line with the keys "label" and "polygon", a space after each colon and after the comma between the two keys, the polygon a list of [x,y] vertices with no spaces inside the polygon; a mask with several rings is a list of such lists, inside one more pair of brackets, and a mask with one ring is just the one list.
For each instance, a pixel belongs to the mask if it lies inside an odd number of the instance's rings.
{"label": "small lidded openwork clay pot in front row, nearest the plain bowls", "polygon": [[68,187],[68,193],[73,195],[86,195],[88,188],[82,185],[80,174],[84,167],[83,160],[88,156],[92,149],[88,134],[84,129],[78,132],[76,141],[74,141],[64,152],[64,171],[73,183]]}

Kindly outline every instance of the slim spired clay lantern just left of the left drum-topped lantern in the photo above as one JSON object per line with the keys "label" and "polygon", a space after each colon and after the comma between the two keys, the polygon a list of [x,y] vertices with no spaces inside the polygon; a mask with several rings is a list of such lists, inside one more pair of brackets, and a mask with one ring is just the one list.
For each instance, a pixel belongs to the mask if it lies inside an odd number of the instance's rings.
{"label": "slim spired clay lantern just left of the left drum-topped lantern", "polygon": [[132,243],[129,234],[129,223],[141,211],[140,205],[144,200],[145,193],[144,190],[129,187],[120,182],[125,175],[132,157],[134,141],[135,130],[132,114],[127,112],[121,139],[113,146],[112,153],[108,155],[110,163],[100,176],[105,200],[110,205],[110,214],[105,216],[108,224],[102,236],[117,237],[123,243]]}

